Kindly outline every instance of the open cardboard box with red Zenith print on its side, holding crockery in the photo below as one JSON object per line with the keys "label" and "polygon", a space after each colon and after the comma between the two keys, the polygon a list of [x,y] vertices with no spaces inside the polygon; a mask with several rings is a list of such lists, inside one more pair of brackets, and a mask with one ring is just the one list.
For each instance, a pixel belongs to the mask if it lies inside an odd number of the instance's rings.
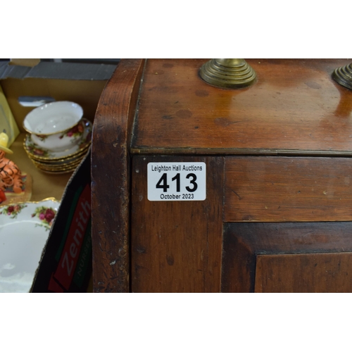
{"label": "open cardboard box with red Zenith print on its side, holding crockery", "polygon": [[93,122],[101,92],[115,68],[116,65],[42,61],[31,67],[0,61],[0,86],[21,132],[14,143],[13,160],[32,175],[32,199],[37,200],[39,193],[40,199],[54,196],[55,187],[62,187],[63,194],[32,292],[92,291],[90,153],[70,180],[69,174],[49,175],[35,169],[23,149],[23,120],[34,106],[23,106],[19,99],[25,96],[38,101],[48,97],[74,101],[82,106],[84,117]]}

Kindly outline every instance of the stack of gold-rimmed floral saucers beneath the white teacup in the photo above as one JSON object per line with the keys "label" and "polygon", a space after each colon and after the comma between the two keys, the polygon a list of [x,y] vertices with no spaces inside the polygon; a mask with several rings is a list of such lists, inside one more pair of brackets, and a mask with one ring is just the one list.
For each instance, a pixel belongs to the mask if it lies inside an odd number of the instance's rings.
{"label": "stack of gold-rimmed floral saucers beneath the white teacup", "polygon": [[64,151],[52,151],[39,146],[33,142],[31,134],[26,134],[23,146],[27,156],[39,170],[51,174],[72,172],[80,165],[82,158],[89,151],[92,142],[92,122],[82,118],[80,120],[80,131],[76,133],[82,134],[80,142]]}

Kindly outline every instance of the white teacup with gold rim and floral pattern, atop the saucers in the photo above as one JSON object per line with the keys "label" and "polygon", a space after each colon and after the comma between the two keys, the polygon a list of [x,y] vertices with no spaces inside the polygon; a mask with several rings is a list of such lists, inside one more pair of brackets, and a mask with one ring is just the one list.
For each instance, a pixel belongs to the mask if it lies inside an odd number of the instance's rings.
{"label": "white teacup with gold rim and floral pattern, atop the saucers", "polygon": [[82,139],[83,109],[72,101],[54,101],[27,114],[23,128],[31,135],[32,142],[49,151],[65,151]]}

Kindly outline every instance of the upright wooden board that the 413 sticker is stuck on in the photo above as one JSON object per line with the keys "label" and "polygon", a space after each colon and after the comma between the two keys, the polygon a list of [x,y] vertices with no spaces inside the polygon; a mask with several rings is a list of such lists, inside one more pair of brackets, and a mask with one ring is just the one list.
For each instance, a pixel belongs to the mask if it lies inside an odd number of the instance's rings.
{"label": "upright wooden board that the 413 sticker is stuck on", "polygon": [[[205,201],[149,201],[146,166],[206,163]],[[132,162],[132,291],[219,292],[223,158],[137,157]]]}

